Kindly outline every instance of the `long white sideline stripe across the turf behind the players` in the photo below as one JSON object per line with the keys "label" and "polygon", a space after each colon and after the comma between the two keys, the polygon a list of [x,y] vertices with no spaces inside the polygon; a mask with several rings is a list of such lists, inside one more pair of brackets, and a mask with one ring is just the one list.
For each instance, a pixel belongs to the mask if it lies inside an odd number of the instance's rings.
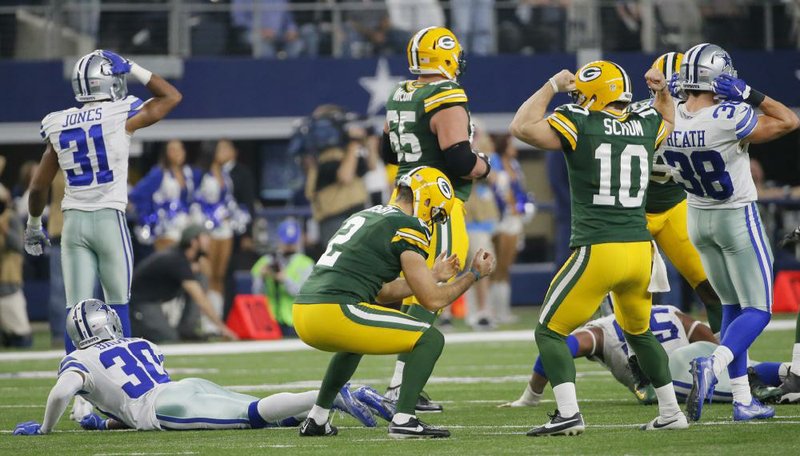
{"label": "long white sideline stripe across the turf behind the players", "polygon": [[[765,331],[793,330],[796,320],[773,320]],[[445,334],[448,344],[477,342],[533,342],[533,328],[517,331],[463,332]],[[276,353],[313,350],[299,339],[259,340],[244,342],[213,342],[200,344],[160,345],[167,356],[242,355],[246,353]],[[61,359],[63,350],[0,353],[0,362]]]}

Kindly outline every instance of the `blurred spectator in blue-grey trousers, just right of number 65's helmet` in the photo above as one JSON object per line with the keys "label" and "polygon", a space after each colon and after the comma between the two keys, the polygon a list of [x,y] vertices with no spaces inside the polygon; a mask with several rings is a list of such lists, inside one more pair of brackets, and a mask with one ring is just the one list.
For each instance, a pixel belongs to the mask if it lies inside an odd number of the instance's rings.
{"label": "blurred spectator in blue-grey trousers, just right of number 65's helmet", "polygon": [[494,0],[451,0],[453,33],[465,52],[488,55],[494,48]]}

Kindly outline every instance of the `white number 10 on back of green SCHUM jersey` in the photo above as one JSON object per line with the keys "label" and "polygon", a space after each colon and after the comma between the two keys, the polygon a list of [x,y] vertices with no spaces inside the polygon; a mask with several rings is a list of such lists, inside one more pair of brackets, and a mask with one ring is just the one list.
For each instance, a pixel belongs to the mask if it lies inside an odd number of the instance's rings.
{"label": "white number 10 on back of green SCHUM jersey", "polygon": [[[639,159],[639,191],[631,195],[633,157]],[[594,150],[594,158],[600,160],[600,188],[592,197],[592,204],[596,206],[616,206],[617,196],[611,194],[611,144],[600,144]],[[619,159],[619,202],[622,207],[639,207],[644,200],[647,188],[649,168],[647,163],[647,149],[640,144],[628,144],[622,150]]]}

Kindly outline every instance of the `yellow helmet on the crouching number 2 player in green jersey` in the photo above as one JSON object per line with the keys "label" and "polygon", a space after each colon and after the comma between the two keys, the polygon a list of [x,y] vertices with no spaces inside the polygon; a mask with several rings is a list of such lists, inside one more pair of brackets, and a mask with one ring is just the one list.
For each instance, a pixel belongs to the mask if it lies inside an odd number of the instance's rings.
{"label": "yellow helmet on the crouching number 2 player in green jersey", "polygon": [[443,172],[430,166],[419,166],[401,176],[397,185],[411,189],[415,217],[428,225],[447,221],[455,199],[453,184]]}

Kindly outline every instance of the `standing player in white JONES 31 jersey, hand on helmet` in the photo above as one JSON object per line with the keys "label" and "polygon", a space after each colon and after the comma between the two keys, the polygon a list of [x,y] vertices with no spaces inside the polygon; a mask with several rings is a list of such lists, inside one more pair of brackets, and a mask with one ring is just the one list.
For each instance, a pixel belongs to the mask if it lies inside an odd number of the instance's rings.
{"label": "standing player in white JONES 31 jersey, hand on helmet", "polygon": [[[146,102],[128,96],[127,76],[153,94]],[[42,230],[48,190],[61,169],[66,190],[61,208],[61,264],[67,308],[94,297],[97,277],[105,301],[130,335],[133,252],[125,221],[128,203],[128,154],[131,135],[163,119],[181,101],[181,93],[160,76],[103,50],[83,56],[72,71],[72,89],[80,107],[48,114],[41,135],[46,144],[30,184],[25,250],[41,255],[49,241]],[[64,338],[67,353],[75,347]]]}

